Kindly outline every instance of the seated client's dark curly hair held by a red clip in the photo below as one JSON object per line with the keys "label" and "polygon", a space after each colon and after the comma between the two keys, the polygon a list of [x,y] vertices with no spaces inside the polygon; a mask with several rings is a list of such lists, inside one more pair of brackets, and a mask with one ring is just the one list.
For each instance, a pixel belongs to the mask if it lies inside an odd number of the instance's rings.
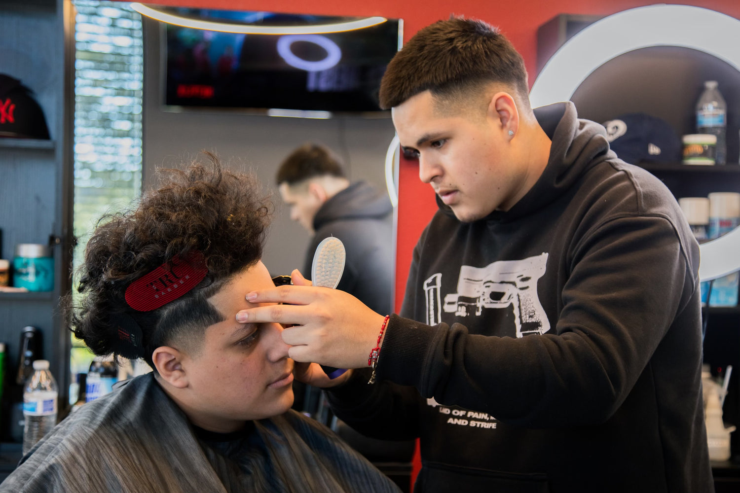
{"label": "seated client's dark curly hair held by a red clip", "polygon": [[[198,350],[204,328],[223,319],[207,299],[260,260],[272,203],[254,176],[222,169],[214,154],[204,154],[211,166],[159,171],[160,188],[135,209],[103,217],[87,242],[80,306],[67,306],[75,336],[93,353],[118,357],[113,319],[119,313],[141,327],[144,360],[152,368],[152,352],[163,344],[178,341]],[[195,251],[208,268],[195,288],[156,310],[129,307],[124,293],[132,282]]]}

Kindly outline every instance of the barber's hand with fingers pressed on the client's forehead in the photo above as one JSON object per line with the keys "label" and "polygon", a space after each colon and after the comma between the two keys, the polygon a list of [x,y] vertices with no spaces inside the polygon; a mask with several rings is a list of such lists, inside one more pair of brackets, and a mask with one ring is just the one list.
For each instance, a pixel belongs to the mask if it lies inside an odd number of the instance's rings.
{"label": "barber's hand with fingers pressed on the client's forehead", "polygon": [[[367,367],[385,316],[344,291],[306,285],[308,281],[297,270],[292,272],[292,278],[292,286],[248,293],[246,299],[250,303],[281,305],[240,310],[237,320],[293,326],[283,330],[283,341],[292,346],[288,354],[294,361],[313,361],[335,368]],[[309,374],[313,373],[309,369]]]}

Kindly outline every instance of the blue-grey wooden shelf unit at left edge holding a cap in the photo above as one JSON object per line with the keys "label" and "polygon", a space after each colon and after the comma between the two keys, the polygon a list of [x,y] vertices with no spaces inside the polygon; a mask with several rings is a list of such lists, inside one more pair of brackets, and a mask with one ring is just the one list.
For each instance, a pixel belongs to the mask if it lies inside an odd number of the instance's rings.
{"label": "blue-grey wooden shelf unit at left edge holding a cap", "polygon": [[3,441],[11,436],[10,402],[19,400],[15,374],[23,327],[32,325],[41,331],[41,356],[50,361],[62,408],[68,399],[70,333],[59,300],[70,291],[73,239],[72,11],[70,0],[0,2],[0,72],[30,89],[51,136],[50,140],[0,138],[0,258],[12,259],[19,243],[41,243],[53,245],[55,265],[53,291],[0,293],[0,341],[5,343],[7,375],[0,412]]}

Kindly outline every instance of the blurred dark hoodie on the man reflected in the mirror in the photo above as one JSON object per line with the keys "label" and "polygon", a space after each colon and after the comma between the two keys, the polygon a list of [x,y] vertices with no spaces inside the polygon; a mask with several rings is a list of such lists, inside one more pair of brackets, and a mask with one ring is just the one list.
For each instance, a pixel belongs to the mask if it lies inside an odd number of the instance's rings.
{"label": "blurred dark hoodie on the man reflected in the mirror", "polygon": [[362,181],[335,194],[314,216],[316,234],[306,251],[303,275],[310,279],[314,252],[321,240],[339,238],[347,256],[337,289],[377,313],[391,313],[395,265],[392,212],[388,195]]}

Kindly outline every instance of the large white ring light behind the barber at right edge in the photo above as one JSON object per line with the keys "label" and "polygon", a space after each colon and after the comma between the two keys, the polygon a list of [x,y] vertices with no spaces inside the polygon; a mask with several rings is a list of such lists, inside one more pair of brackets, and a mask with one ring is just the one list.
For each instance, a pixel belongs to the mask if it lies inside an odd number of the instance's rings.
{"label": "large white ring light behind the barber at right edge", "polygon": [[[711,27],[710,30],[697,26]],[[591,72],[624,53],[656,46],[713,55],[740,72],[740,21],[687,5],[650,5],[600,19],[573,35],[550,58],[529,94],[532,107],[568,101]],[[699,279],[740,270],[740,228],[699,245]]]}

